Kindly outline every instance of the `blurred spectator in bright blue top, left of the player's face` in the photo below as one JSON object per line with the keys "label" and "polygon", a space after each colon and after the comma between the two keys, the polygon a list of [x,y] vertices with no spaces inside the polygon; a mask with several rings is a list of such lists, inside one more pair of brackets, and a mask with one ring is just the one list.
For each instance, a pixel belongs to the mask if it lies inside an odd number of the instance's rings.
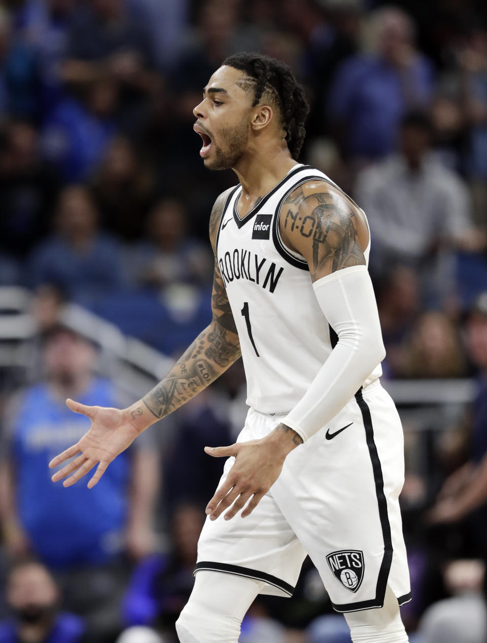
{"label": "blurred spectator in bright blue top, left of the player's face", "polygon": [[108,77],[87,82],[81,100],[66,97],[42,128],[44,159],[65,183],[89,179],[115,138],[118,84]]}

